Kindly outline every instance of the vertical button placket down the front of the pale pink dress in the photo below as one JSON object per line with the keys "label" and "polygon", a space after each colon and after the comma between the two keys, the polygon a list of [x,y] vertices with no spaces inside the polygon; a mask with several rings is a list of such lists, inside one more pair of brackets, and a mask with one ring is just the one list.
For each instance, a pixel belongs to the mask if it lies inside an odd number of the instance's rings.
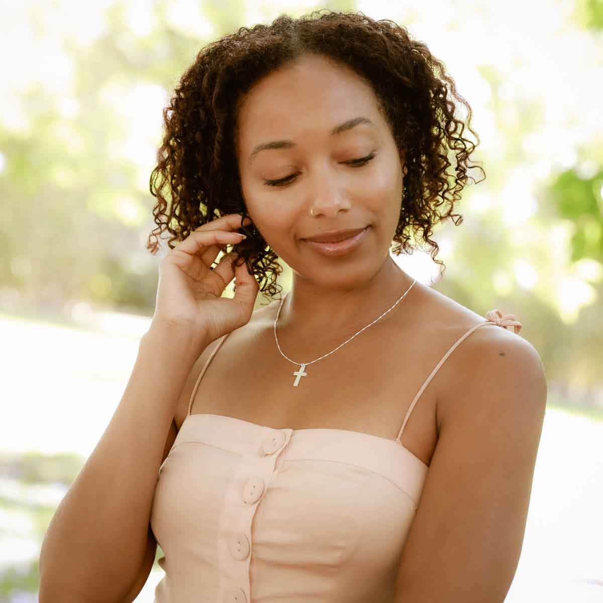
{"label": "vertical button placket down the front of the pale pink dress", "polygon": [[224,494],[218,520],[218,561],[225,601],[246,603],[250,599],[251,524],[274,475],[279,452],[291,434],[291,429],[262,427],[250,441],[248,453],[241,456]]}

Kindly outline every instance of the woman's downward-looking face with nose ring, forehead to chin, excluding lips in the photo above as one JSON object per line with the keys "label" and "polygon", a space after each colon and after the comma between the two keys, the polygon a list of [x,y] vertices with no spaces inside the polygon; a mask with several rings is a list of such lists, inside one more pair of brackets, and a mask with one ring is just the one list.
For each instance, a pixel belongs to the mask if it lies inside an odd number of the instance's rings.
{"label": "woman's downward-looking face with nose ring, forehead to chin, excluding lips", "polygon": [[[358,121],[332,133],[356,118],[372,124]],[[238,126],[242,192],[270,247],[298,278],[317,285],[370,280],[388,258],[403,182],[403,155],[371,87],[348,68],[305,55],[251,90]],[[257,150],[266,144],[271,148]],[[358,247],[340,257],[326,257],[304,240],[366,226]]]}

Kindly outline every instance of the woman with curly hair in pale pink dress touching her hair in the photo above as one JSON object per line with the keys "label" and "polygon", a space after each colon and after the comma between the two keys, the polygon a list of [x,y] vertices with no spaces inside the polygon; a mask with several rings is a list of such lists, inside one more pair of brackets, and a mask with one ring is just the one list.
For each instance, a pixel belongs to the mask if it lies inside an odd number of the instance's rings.
{"label": "woman with curly hair in pale pink dress touching her hair", "polygon": [[[475,145],[449,89],[464,103],[423,43],[362,14],[280,16],[200,52],[151,177],[153,234],[180,244],[40,560],[44,579],[53,553],[96,551],[95,570],[48,592],[133,601],[159,541],[157,603],[504,601],[540,358],[513,315],[484,320],[390,256],[423,238],[435,259],[432,227],[460,218]],[[277,257],[291,291],[254,311]]]}

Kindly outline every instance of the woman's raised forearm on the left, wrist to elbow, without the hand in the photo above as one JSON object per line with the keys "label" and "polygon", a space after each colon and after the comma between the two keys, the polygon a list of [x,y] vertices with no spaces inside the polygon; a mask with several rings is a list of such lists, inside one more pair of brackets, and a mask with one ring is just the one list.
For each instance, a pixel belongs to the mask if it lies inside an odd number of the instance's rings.
{"label": "woman's raised forearm on the left, wrist to elbow, without the hand", "polygon": [[157,472],[175,439],[171,424],[203,347],[188,333],[153,326],[140,340],[124,395],[46,531],[40,603],[123,601],[136,582],[150,556]]}

